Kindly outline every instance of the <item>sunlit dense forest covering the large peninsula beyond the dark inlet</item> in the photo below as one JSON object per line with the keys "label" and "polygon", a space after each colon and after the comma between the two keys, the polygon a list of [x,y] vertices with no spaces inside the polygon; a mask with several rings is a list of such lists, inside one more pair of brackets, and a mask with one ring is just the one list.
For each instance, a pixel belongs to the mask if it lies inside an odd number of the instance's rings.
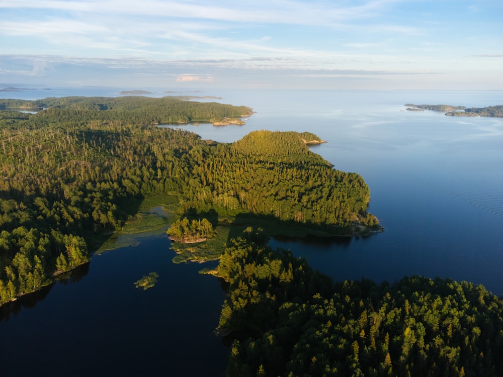
{"label": "sunlit dense forest covering the large peninsula beyond the dark inlet", "polygon": [[238,214],[328,234],[378,229],[366,213],[363,179],[333,169],[300,134],[260,131],[233,144],[204,141],[152,123],[234,117],[248,108],[155,100],[0,103],[47,107],[36,114],[0,111],[0,303],[87,262],[151,194],[178,208],[172,233],[181,240],[211,237],[210,221],[232,222]]}

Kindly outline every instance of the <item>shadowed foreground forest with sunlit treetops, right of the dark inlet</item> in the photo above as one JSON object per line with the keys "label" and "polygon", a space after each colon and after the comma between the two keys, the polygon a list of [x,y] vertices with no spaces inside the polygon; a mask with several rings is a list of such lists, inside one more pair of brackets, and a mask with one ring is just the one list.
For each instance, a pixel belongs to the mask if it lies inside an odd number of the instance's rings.
{"label": "shadowed foreground forest with sunlit treetops, right of the dark inlet", "polygon": [[411,276],[333,283],[247,229],[215,272],[229,376],[500,376],[503,301],[482,286]]}

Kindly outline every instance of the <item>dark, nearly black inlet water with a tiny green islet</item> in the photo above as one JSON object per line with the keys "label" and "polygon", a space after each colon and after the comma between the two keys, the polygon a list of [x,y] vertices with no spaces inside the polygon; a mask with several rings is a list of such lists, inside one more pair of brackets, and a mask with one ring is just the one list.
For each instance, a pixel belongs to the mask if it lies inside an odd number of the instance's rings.
{"label": "dark, nearly black inlet water with a tiny green islet", "polygon": [[[95,256],[78,281],[12,303],[42,296],[0,322],[2,375],[221,375],[228,351],[213,329],[225,294],[200,264],[174,264],[169,245],[140,239]],[[151,271],[156,285],[136,289]]]}

